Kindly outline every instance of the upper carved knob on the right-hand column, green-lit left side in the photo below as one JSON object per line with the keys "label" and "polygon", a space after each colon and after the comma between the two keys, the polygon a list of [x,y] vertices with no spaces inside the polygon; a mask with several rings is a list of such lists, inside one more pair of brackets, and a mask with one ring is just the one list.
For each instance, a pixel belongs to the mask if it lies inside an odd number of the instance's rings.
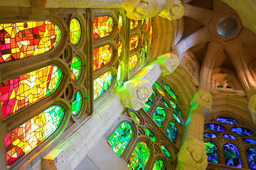
{"label": "upper carved knob on the right-hand column, green-lit left side", "polygon": [[213,96],[208,91],[198,91],[191,101],[191,106],[201,106],[205,108],[204,113],[210,113],[213,105]]}

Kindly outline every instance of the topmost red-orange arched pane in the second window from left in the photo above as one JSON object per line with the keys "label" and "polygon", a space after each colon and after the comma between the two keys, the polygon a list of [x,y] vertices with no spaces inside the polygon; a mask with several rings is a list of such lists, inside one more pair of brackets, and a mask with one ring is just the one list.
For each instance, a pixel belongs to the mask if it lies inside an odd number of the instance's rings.
{"label": "topmost red-orange arched pane in the second window from left", "polygon": [[98,16],[93,18],[93,38],[104,38],[111,35],[114,21],[111,16]]}

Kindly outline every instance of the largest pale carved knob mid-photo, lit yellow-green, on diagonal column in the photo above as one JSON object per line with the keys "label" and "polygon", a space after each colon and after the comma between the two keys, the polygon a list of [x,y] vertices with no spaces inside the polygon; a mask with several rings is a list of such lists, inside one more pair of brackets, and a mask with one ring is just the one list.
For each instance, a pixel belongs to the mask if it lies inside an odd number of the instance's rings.
{"label": "largest pale carved knob mid-photo, lit yellow-green, on diagonal column", "polygon": [[149,81],[132,79],[124,82],[124,86],[119,90],[119,97],[124,107],[138,111],[148,101],[152,92],[153,89]]}

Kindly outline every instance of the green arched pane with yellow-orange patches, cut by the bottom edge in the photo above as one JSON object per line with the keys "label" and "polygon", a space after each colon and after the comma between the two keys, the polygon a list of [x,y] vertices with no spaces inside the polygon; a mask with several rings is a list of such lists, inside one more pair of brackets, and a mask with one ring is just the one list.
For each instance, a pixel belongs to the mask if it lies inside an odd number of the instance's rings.
{"label": "green arched pane with yellow-orange patches, cut by the bottom edge", "polygon": [[144,170],[149,161],[150,149],[146,142],[138,142],[132,156],[129,158],[127,166],[132,170]]}

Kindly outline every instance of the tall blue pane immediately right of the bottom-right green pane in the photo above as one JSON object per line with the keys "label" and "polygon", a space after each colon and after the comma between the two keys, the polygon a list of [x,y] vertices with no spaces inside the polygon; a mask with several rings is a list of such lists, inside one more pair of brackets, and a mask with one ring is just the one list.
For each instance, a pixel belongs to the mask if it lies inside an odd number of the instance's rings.
{"label": "tall blue pane immediately right of the bottom-right green pane", "polygon": [[226,165],[242,168],[238,147],[233,145],[233,143],[229,142],[224,145],[224,155]]}

